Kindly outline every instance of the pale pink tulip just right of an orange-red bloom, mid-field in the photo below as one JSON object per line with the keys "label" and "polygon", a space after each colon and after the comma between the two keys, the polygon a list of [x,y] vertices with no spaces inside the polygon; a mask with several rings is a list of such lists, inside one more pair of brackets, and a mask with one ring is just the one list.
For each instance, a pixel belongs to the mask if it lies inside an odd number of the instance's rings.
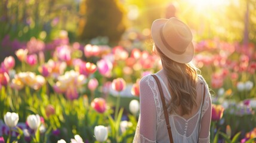
{"label": "pale pink tulip just right of an orange-red bloom, mid-field", "polygon": [[101,59],[97,62],[97,67],[100,74],[109,77],[113,69],[113,64],[109,60]]}

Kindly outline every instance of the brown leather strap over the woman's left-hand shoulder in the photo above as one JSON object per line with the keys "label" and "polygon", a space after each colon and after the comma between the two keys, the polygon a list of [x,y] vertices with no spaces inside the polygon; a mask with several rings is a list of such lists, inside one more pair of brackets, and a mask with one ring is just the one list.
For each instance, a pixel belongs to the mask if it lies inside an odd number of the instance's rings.
{"label": "brown leather strap over the woman's left-hand shoulder", "polygon": [[163,104],[163,108],[164,108],[165,121],[166,121],[167,130],[168,130],[169,140],[171,143],[173,143],[172,133],[171,133],[171,125],[169,123],[169,116],[168,116],[168,112],[167,112],[167,108],[166,108],[166,104],[165,104],[165,98],[164,98],[162,86],[161,86],[161,83],[160,83],[158,77],[155,74],[152,74],[152,76],[154,77],[154,79],[156,80],[156,83],[158,84],[158,89],[159,89],[159,92],[161,95],[161,100],[162,100],[162,104]]}

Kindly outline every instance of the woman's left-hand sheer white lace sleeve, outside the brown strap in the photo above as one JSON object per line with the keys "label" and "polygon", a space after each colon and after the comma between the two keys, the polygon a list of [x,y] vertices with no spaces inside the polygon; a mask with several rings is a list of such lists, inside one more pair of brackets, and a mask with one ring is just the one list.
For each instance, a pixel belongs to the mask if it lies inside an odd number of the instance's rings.
{"label": "woman's left-hand sheer white lace sleeve, outside the brown strap", "polygon": [[156,142],[156,105],[148,84],[149,76],[140,81],[140,117],[133,142]]}

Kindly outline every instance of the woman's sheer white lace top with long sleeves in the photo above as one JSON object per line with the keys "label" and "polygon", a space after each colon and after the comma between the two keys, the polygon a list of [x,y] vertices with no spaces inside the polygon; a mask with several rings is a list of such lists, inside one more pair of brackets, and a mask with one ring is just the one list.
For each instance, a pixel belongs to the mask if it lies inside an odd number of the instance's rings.
{"label": "woman's sheer white lace top with long sleeves", "polygon": [[[163,71],[156,73],[158,76],[165,101],[171,99],[168,91],[167,79]],[[209,128],[211,123],[211,97],[209,88],[202,76],[199,76],[199,82],[204,83],[206,87],[205,101],[202,108],[201,129],[199,133],[199,142],[209,142]],[[198,105],[195,111],[189,117],[179,116],[178,114],[169,114],[169,122],[172,130],[174,142],[197,142],[199,118],[201,114],[203,87],[198,84],[197,87]],[[159,94],[158,85],[151,75],[144,76],[140,81],[140,117],[138,119],[137,129],[133,142],[169,142],[169,136],[166,128],[164,110]]]}

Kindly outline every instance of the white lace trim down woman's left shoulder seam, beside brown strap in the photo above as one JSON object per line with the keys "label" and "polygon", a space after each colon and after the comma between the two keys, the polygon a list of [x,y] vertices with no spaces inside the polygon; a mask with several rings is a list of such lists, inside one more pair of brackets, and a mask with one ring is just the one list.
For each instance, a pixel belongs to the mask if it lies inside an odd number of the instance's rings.
{"label": "white lace trim down woman's left shoulder seam, beside brown strap", "polygon": [[159,103],[159,100],[158,100],[159,96],[158,96],[158,92],[156,91],[156,83],[152,79],[153,79],[153,77],[148,76],[146,81],[147,81],[147,84],[149,85],[149,87],[152,90],[153,95],[154,95],[154,100],[155,100],[155,104],[156,104],[156,115],[157,115],[157,122],[156,123],[158,124],[162,120],[164,120],[165,117],[164,117],[164,114],[162,114],[164,112],[161,111],[160,103]]}

